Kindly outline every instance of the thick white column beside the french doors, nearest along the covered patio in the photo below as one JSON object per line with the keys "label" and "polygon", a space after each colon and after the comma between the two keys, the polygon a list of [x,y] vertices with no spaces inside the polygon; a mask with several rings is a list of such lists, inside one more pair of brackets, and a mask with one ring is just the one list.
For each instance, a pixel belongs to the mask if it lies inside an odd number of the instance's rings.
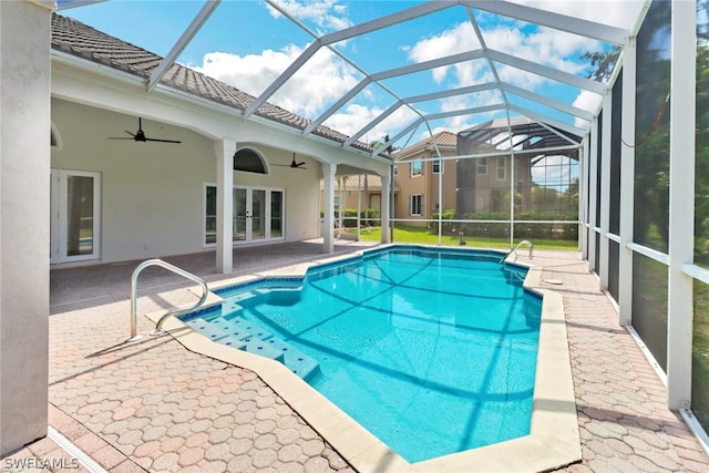
{"label": "thick white column beside the french doors, nearest along the covered patio", "polygon": [[217,158],[217,271],[229,274],[234,269],[234,154],[236,142],[220,140],[214,143]]}

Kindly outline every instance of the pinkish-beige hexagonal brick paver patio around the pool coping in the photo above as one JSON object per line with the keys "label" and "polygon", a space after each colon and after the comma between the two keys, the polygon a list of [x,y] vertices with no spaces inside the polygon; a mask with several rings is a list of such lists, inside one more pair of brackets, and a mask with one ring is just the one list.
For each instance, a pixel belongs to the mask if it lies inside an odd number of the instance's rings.
{"label": "pinkish-beige hexagonal brick paver patio around the pool coping", "polygon": [[[235,275],[321,258],[320,248],[237,249]],[[169,260],[212,284],[224,278],[214,271],[213,254]],[[544,267],[543,280],[563,282],[548,286],[564,296],[583,460],[559,471],[709,472],[709,457],[681,417],[666,408],[660,380],[618,326],[578,254],[535,250],[532,263]],[[167,336],[125,343],[134,267],[52,271],[53,429],[112,472],[353,471],[254,372],[189,352]],[[162,269],[145,270],[140,313],[193,302],[188,286]],[[152,328],[138,318],[140,333]],[[30,465],[22,459],[61,457],[66,461],[47,464],[45,471],[74,466],[71,455],[47,438],[3,459],[2,469]]]}

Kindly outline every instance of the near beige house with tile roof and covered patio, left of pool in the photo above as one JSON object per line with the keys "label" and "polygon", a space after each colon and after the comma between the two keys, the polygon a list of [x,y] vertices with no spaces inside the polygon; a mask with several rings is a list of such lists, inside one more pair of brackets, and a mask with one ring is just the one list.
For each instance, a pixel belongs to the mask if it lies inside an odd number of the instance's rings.
{"label": "near beige house with tile roof and covered patio, left of pool", "polygon": [[162,58],[79,21],[53,14],[51,43],[53,264],[216,248],[226,273],[233,245],[320,236],[321,176],[371,174],[381,195],[391,172],[269,103],[244,120],[253,96],[178,64],[148,92]]}

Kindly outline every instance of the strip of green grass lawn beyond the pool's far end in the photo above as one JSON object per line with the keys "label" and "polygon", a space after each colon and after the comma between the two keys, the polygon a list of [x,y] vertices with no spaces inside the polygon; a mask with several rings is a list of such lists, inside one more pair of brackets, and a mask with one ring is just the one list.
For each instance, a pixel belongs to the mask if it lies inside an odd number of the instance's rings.
{"label": "strip of green grass lawn beyond the pool's far end", "polygon": [[[354,232],[354,230],[350,230]],[[363,228],[360,234],[360,239],[363,241],[380,241],[381,240],[381,228],[380,227],[369,227]],[[397,225],[394,227],[394,243],[417,243],[421,245],[438,245],[439,236],[438,234],[431,234],[430,228],[425,227],[417,227],[409,225]],[[463,240],[465,241],[465,246],[472,246],[477,248],[503,248],[510,249],[510,238],[487,238],[487,237],[476,237],[464,236]],[[521,239],[515,239],[515,243],[521,241]],[[565,249],[565,250],[576,250],[578,249],[578,241],[576,240],[558,240],[558,239],[534,239],[532,244],[535,248],[540,249]],[[459,246],[460,237],[459,236],[450,236],[443,235],[441,237],[441,245],[445,246]]]}

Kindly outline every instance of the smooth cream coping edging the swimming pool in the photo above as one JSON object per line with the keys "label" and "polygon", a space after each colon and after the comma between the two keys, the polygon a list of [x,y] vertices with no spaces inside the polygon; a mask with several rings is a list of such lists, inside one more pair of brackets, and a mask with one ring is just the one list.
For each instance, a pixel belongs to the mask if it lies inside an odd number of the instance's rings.
{"label": "smooth cream coping edging the swimming pool", "polygon": [[[362,250],[315,260],[259,276],[243,276],[220,281],[214,289],[265,277],[302,277],[310,267],[358,258],[366,253]],[[501,255],[504,256],[504,253]],[[517,265],[530,268],[524,287],[543,297],[531,433],[418,463],[407,462],[278,361],[212,342],[176,318],[167,319],[163,328],[188,350],[255,371],[362,473],[464,471],[470,465],[481,471],[548,471],[582,459],[564,304],[561,295],[541,287],[541,267],[523,263]],[[210,302],[218,302],[218,296],[214,296]],[[162,313],[153,312],[147,317],[157,321]]]}

